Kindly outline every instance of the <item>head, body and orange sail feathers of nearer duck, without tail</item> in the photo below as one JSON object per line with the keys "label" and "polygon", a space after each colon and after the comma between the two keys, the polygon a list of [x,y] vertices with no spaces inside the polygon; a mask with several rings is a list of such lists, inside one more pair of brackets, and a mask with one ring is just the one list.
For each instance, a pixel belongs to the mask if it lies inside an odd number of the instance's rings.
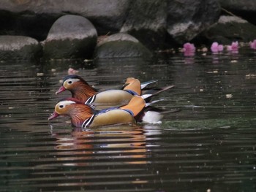
{"label": "head, body and orange sail feathers of nearer duck, without tail", "polygon": [[105,110],[94,110],[90,105],[83,104],[78,99],[69,98],[56,104],[52,120],[59,115],[68,115],[72,126],[81,128],[95,128],[115,124],[135,124],[135,116],[146,107],[146,101],[141,96],[133,96],[127,105],[110,107]]}

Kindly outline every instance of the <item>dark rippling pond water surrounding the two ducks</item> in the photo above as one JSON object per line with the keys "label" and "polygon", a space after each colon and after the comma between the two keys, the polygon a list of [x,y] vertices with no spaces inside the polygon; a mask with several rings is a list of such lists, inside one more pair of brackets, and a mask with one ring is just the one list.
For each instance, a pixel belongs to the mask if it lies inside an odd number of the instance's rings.
{"label": "dark rippling pond water surrounding the two ducks", "polygon": [[[0,191],[256,191],[256,52],[156,61],[0,64]],[[48,122],[72,66],[97,88],[126,77],[158,86],[162,124],[72,129]]]}

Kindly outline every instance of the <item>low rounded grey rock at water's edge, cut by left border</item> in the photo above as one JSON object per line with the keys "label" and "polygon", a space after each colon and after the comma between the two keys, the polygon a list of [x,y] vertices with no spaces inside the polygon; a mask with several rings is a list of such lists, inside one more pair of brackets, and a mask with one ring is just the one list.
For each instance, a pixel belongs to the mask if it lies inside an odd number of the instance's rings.
{"label": "low rounded grey rock at water's edge, cut by left border", "polygon": [[42,55],[36,39],[23,36],[0,36],[0,60],[34,60]]}

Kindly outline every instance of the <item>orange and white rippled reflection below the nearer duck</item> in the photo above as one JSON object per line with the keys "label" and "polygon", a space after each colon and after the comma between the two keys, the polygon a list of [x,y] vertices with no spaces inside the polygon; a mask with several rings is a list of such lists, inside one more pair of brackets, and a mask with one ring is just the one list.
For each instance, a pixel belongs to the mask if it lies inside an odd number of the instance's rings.
{"label": "orange and white rippled reflection below the nearer duck", "polygon": [[95,166],[104,160],[111,164],[110,158],[118,159],[118,162],[124,159],[122,164],[146,164],[146,135],[143,130],[142,126],[127,125],[96,128],[95,131],[75,128],[71,135],[56,138],[57,159],[64,161],[64,166]]}

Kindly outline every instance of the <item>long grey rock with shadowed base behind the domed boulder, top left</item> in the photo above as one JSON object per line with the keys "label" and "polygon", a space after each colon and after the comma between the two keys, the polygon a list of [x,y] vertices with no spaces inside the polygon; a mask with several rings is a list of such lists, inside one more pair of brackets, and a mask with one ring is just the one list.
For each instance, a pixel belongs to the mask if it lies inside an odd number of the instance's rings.
{"label": "long grey rock with shadowed base behind the domed boulder, top left", "polygon": [[0,34],[45,39],[54,21],[68,14],[94,23],[99,34],[118,32],[124,23],[130,0],[1,0]]}

